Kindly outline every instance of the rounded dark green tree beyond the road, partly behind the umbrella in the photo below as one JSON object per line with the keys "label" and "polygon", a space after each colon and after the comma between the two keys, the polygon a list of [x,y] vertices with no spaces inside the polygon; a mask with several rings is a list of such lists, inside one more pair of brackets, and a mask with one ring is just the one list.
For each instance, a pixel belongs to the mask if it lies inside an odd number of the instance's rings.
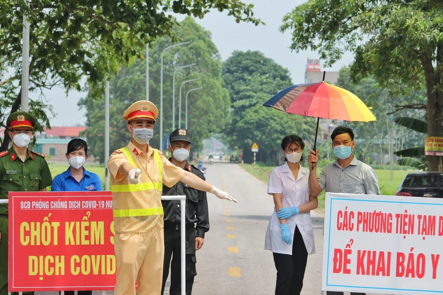
{"label": "rounded dark green tree beyond the road, partly behind the umbrella", "polygon": [[282,155],[280,144],[289,134],[313,142],[315,119],[268,109],[262,104],[272,95],[292,85],[289,71],[260,52],[235,51],[223,63],[224,85],[231,96],[232,121],[224,140],[231,147],[243,148],[243,160],[253,161],[251,147],[259,146],[258,161],[275,165]]}

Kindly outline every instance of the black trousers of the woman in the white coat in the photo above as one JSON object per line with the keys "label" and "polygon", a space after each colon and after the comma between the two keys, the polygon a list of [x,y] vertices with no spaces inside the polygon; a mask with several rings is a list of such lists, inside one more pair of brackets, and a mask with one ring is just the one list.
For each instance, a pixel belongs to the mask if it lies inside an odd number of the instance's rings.
{"label": "black trousers of the woman in the white coat", "polygon": [[277,282],[275,295],[300,295],[303,288],[308,251],[298,230],[295,228],[292,239],[292,255],[273,253]]}

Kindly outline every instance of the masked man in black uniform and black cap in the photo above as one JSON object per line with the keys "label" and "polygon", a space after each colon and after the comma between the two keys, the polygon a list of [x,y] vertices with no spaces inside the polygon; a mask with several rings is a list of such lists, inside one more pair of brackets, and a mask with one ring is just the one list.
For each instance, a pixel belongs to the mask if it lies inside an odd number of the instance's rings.
{"label": "masked man in black uniform and black cap", "polygon": [[[181,167],[204,180],[200,170],[188,163],[192,135],[187,129],[176,129],[170,135],[174,165]],[[186,295],[191,295],[195,269],[195,250],[204,243],[205,233],[209,231],[208,201],[206,192],[196,190],[179,181],[169,188],[163,185],[163,196],[186,195]],[[180,201],[161,201],[164,211],[164,262],[161,295],[169,274],[171,264],[170,295],[180,295],[181,291],[181,253],[180,253]],[[196,223],[195,227],[194,224]],[[172,258],[172,261],[171,261]]]}

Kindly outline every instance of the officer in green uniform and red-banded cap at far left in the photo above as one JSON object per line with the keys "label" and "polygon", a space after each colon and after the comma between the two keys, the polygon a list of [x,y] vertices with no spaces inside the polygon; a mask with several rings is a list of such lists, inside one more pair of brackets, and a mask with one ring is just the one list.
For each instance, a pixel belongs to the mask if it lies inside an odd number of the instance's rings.
{"label": "officer in green uniform and red-banded cap at far left", "polygon": [[[6,125],[12,147],[0,153],[0,199],[8,199],[8,192],[46,191],[52,184],[48,163],[28,149],[35,119],[27,112],[15,112]],[[8,295],[8,204],[0,204],[0,295]]]}

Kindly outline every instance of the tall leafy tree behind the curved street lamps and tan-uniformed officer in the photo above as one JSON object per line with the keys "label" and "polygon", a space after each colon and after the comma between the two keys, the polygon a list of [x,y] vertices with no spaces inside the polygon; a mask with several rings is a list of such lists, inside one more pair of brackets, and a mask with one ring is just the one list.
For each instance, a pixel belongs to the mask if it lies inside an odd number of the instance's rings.
{"label": "tall leafy tree behind the curved street lamps and tan-uniformed officer", "polygon": [[[189,89],[202,86],[203,89],[189,94],[189,129],[192,133],[192,150],[202,147],[202,140],[209,138],[211,133],[218,133],[229,119],[229,93],[222,89],[221,58],[217,47],[211,40],[209,31],[204,30],[191,17],[187,17],[179,26],[174,27],[174,34],[179,38],[192,41],[187,46],[179,46],[165,53],[163,58],[163,138],[172,130],[172,74],[179,66],[193,62],[193,67],[183,69],[176,74],[175,115],[178,127],[179,87],[185,80],[199,78],[200,81],[187,83],[182,89],[182,125],[185,126],[185,96]],[[161,37],[153,42],[150,50],[150,100],[159,107],[160,97],[160,55],[170,45],[168,38]],[[123,66],[110,82],[110,147],[121,148],[127,145],[127,123],[123,120],[123,112],[134,101],[146,99],[146,60],[137,59],[130,66]],[[104,158],[104,101],[94,99],[94,89],[79,102],[86,109],[87,129],[84,135],[91,146],[91,153],[100,163]],[[154,138],[150,145],[158,147],[159,124],[157,119]]]}

